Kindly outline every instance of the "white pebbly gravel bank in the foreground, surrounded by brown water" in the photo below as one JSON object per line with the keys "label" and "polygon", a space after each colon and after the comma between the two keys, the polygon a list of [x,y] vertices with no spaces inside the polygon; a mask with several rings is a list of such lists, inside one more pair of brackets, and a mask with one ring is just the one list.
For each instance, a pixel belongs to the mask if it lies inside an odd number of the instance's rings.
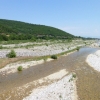
{"label": "white pebbly gravel bank in the foreground, surrounded by brown water", "polygon": [[72,74],[66,76],[67,73],[61,70],[41,79],[49,81],[59,79],[59,81],[33,89],[31,94],[23,100],[77,100],[75,80],[69,81],[73,76]]}

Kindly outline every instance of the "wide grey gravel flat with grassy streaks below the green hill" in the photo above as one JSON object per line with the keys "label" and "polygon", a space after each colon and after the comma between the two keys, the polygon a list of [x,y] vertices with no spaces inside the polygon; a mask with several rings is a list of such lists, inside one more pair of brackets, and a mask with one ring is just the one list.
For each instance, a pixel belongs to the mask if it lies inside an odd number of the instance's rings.
{"label": "wide grey gravel flat with grassy streaks below the green hill", "polygon": [[0,44],[0,58],[6,58],[6,55],[13,49],[17,57],[45,56],[62,53],[80,46],[93,44],[95,41],[73,40],[45,41],[45,42],[27,42],[20,44]]}

